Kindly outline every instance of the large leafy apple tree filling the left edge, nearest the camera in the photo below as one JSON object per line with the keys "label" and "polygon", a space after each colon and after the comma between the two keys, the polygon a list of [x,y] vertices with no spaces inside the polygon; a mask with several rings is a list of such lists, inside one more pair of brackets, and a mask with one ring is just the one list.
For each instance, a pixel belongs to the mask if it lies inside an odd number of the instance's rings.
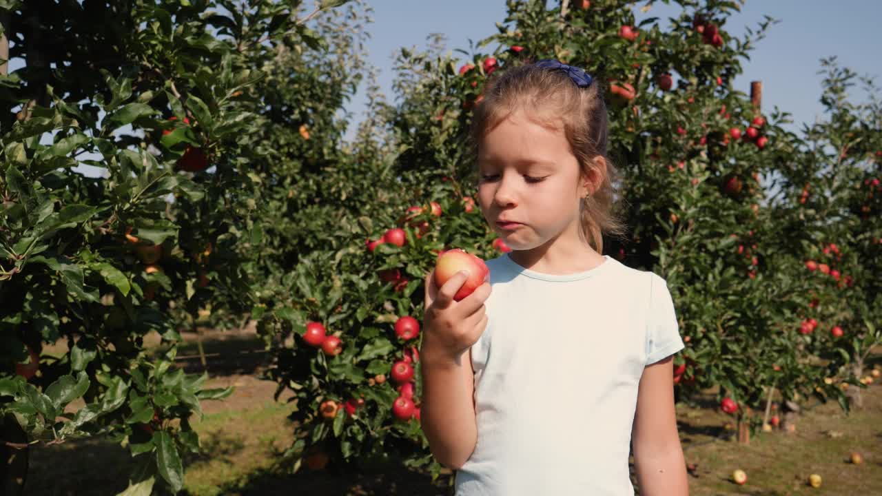
{"label": "large leafy apple tree filling the left edge, nearest the camera", "polygon": [[262,121],[244,102],[271,41],[318,42],[306,21],[344,3],[0,2],[6,493],[30,449],[99,435],[134,457],[128,491],[181,489],[191,416],[230,389],[175,366],[178,329],[250,309]]}

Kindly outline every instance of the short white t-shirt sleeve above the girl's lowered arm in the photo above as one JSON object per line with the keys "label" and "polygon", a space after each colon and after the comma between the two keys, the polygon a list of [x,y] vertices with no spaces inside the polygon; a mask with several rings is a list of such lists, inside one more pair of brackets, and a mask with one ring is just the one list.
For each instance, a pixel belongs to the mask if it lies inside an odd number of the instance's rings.
{"label": "short white t-shirt sleeve above the girl's lowered arm", "polygon": [[670,297],[668,282],[650,274],[649,311],[647,312],[647,365],[684,349],[676,323],[674,300]]}

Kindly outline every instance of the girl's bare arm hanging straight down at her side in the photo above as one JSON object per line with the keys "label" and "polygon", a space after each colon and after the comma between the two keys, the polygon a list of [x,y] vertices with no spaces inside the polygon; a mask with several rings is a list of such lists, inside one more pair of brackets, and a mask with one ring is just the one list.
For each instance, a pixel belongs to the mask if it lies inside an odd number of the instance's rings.
{"label": "girl's bare arm hanging straight down at her side", "polygon": [[640,377],[632,445],[640,496],[689,495],[676,431],[673,356],[647,365]]}

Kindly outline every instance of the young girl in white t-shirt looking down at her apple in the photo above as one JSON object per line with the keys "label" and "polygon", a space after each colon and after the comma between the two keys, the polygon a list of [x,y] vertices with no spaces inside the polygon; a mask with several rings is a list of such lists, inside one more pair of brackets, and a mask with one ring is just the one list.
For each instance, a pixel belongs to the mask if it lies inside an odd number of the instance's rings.
{"label": "young girl in white t-shirt looking down at her apple", "polygon": [[498,71],[471,130],[481,211],[512,252],[426,277],[422,429],[456,494],[688,494],[667,283],[602,255],[617,170],[589,75],[554,60]]}

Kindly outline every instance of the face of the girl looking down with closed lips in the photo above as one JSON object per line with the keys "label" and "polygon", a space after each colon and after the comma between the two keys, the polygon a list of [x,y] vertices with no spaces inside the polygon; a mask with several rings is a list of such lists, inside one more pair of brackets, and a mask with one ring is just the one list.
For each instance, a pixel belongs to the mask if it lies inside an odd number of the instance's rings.
{"label": "face of the girl looking down with closed lips", "polygon": [[[478,150],[478,202],[505,244],[531,250],[562,234],[579,239],[579,202],[587,188],[562,129],[517,112],[488,132]],[[519,225],[504,229],[500,221]]]}

